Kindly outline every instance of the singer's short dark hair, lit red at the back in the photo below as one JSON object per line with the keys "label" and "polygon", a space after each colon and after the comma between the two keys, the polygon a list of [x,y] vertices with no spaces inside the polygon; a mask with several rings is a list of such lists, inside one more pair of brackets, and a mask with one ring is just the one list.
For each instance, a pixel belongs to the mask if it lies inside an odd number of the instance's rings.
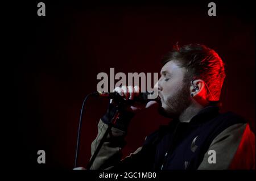
{"label": "singer's short dark hair, lit red at the back", "polygon": [[208,87],[208,100],[220,99],[221,87],[226,77],[224,63],[218,54],[205,45],[189,44],[174,48],[162,59],[162,65],[175,61],[180,67],[187,69],[185,79],[192,81],[203,79]]}

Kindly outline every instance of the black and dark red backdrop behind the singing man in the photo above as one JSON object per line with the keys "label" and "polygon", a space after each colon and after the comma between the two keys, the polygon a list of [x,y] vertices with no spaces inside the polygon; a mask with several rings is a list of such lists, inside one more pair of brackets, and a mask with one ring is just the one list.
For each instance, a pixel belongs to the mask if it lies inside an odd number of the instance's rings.
{"label": "black and dark red backdrop behind the singing man", "polygon": [[[233,111],[255,132],[255,25],[248,2],[216,2],[217,16],[208,16],[208,1],[199,2],[51,2],[46,16],[37,3],[17,5],[14,30],[19,60],[15,67],[20,168],[72,169],[80,108],[95,91],[100,72],[159,72],[160,59],[179,41],[201,43],[225,62],[222,112]],[[82,125],[79,166],[90,158],[90,143],[108,100],[90,98]],[[168,119],[154,108],[131,121],[124,155],[137,149],[147,134]],[[46,151],[46,164],[36,161]]]}

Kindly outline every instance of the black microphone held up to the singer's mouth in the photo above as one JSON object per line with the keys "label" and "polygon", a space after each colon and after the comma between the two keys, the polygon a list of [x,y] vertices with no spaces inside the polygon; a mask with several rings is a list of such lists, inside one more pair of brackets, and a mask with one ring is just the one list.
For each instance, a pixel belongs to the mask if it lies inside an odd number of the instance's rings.
{"label": "black microphone held up to the singer's mouth", "polygon": [[140,102],[140,103],[148,103],[151,100],[159,101],[160,98],[159,96],[154,95],[154,91],[152,92],[139,92],[138,96],[134,96],[133,100],[124,100],[121,95],[118,94],[118,92],[101,92],[101,91],[96,91],[93,92],[94,96],[100,96],[102,98],[108,98],[108,99],[113,99],[113,100],[118,100],[118,101],[126,101],[126,102]]}

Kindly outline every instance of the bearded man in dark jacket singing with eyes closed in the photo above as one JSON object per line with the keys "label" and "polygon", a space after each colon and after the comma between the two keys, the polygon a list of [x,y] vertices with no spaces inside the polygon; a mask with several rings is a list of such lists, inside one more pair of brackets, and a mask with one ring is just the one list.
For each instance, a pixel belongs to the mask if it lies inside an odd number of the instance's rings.
{"label": "bearded man in dark jacket singing with eyes closed", "polygon": [[[155,89],[160,97],[159,113],[170,117],[170,123],[147,136],[140,148],[121,160],[130,120],[156,102],[122,108],[90,169],[255,169],[255,136],[249,124],[232,112],[219,113],[225,69],[218,54],[205,45],[176,45],[162,65]],[[123,99],[134,99],[139,88],[122,86],[115,91]],[[92,154],[113,119],[116,105],[112,100],[98,123]]]}

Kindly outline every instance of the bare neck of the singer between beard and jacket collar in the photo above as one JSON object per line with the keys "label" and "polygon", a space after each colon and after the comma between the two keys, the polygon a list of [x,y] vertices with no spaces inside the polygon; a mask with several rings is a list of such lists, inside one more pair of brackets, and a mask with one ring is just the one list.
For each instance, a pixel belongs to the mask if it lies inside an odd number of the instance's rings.
{"label": "bare neck of the singer between beard and jacket collar", "polygon": [[203,110],[203,106],[200,104],[191,104],[187,107],[179,116],[179,120],[181,123],[189,123],[191,119],[197,115],[201,110]]}

